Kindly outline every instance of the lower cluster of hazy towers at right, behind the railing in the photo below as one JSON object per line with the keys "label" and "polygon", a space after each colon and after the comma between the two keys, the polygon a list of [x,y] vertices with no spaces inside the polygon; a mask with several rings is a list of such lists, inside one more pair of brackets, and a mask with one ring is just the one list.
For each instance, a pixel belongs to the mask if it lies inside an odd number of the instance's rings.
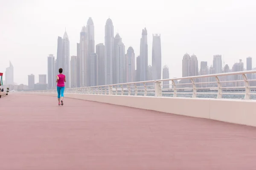
{"label": "lower cluster of hazy towers at right, behind the railing", "polygon": [[[195,54],[189,56],[189,54],[185,54],[182,60],[182,77],[190,77],[190,76],[198,76],[198,75],[207,75],[207,74],[221,74],[221,73],[229,73],[236,71],[244,71],[244,70],[252,70],[252,58],[247,57],[246,59],[246,69],[244,68],[244,63],[240,59],[239,62],[235,62],[233,67],[230,68],[229,65],[225,65],[222,67],[222,59],[221,55],[213,56],[213,65],[208,67],[206,61],[201,61],[200,71],[198,71],[198,59]],[[247,74],[247,79],[255,79],[256,75]],[[233,81],[233,80],[242,80],[243,77],[241,75],[232,75],[232,76],[223,76],[220,77],[220,81]],[[208,77],[203,79],[196,79],[201,82],[216,82],[215,77]],[[180,81],[180,83],[187,83],[189,79],[184,79]],[[243,86],[244,82],[227,82],[224,83],[223,86]],[[202,83],[201,86],[209,87],[215,86],[215,83]]]}

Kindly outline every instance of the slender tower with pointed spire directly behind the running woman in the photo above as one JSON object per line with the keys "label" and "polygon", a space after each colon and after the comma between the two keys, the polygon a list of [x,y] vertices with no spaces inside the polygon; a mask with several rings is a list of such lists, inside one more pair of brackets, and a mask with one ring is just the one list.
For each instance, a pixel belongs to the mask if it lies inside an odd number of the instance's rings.
{"label": "slender tower with pointed spire directly behind the running woman", "polygon": [[64,68],[63,72],[66,76],[66,88],[70,88],[70,41],[67,36],[67,32],[65,31],[64,36],[62,38],[62,55],[64,59]]}

